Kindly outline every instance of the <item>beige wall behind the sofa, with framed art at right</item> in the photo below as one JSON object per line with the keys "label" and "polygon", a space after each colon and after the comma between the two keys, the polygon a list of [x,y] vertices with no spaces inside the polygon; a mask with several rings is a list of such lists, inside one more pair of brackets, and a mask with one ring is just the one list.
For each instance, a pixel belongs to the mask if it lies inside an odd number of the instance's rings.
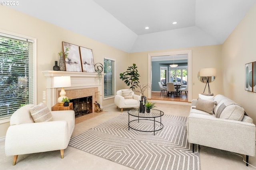
{"label": "beige wall behind the sofa, with framed art at right", "polygon": [[[256,61],[256,4],[222,45],[223,92],[256,123],[256,93],[244,90],[245,64]],[[246,132],[245,132],[246,133]]]}

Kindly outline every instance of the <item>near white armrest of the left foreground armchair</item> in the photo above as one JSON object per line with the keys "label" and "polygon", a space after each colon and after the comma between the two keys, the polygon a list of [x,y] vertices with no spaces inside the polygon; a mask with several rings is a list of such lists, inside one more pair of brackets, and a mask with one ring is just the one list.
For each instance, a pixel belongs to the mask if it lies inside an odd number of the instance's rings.
{"label": "near white armrest of the left foreground armchair", "polygon": [[24,123],[8,127],[6,156],[61,150],[68,147],[67,121]]}

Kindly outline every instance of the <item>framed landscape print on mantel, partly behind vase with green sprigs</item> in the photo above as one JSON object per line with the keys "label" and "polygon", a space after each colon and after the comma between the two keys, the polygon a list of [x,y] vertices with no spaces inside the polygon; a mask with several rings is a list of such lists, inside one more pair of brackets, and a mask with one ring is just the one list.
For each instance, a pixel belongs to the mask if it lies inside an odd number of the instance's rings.
{"label": "framed landscape print on mantel, partly behind vase with green sprigs", "polygon": [[62,42],[63,51],[69,47],[68,57],[65,59],[66,71],[82,72],[79,47],[70,43]]}

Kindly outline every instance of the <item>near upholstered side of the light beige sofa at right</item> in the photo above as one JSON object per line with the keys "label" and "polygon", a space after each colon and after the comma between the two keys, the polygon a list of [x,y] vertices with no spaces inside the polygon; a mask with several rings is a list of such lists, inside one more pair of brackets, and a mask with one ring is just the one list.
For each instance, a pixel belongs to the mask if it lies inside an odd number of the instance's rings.
{"label": "near upholstered side of the light beige sofa at right", "polygon": [[255,156],[253,123],[190,113],[187,131],[189,143]]}

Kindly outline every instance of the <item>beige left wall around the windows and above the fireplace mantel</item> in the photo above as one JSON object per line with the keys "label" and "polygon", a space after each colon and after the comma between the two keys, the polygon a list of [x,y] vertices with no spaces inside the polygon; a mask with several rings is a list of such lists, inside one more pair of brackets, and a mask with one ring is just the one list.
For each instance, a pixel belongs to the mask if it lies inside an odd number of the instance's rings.
{"label": "beige left wall around the windows and above the fireplace mantel", "polygon": [[[6,6],[0,6],[0,29],[37,39],[37,103],[43,102],[46,91],[46,78],[42,71],[52,70],[54,61],[59,60],[58,52],[62,50],[62,41],[92,49],[94,63],[102,63],[104,57],[116,59],[116,72],[124,72],[129,64],[129,54],[88,37],[58,27],[51,23],[28,16]],[[67,23],[68,24],[68,23]],[[116,75],[116,88],[125,88]],[[104,100],[102,106],[114,103],[114,99]],[[0,124],[0,138],[6,134],[10,123]]]}

